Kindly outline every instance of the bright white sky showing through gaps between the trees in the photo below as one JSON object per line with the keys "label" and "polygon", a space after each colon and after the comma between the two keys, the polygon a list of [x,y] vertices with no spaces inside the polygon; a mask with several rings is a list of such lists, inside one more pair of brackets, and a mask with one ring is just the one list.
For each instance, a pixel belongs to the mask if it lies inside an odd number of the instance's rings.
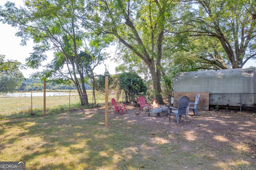
{"label": "bright white sky showing through gaps between the trees", "polygon": [[[15,2],[16,5],[22,5],[22,0],[9,0],[10,2]],[[6,3],[6,0],[0,0],[0,6],[4,6]],[[17,32],[16,28],[11,27],[8,24],[2,24],[0,23],[0,54],[5,55],[5,59],[12,59],[17,60],[22,64],[26,63],[26,58],[30,56],[30,53],[33,51],[33,42],[32,40],[27,42],[26,46],[21,46],[21,38],[16,37],[15,33]],[[114,52],[115,49],[108,49],[109,52]],[[48,60],[43,62],[42,65],[46,65],[49,63],[53,57],[51,53],[47,53]],[[114,63],[114,61],[110,61],[109,59],[105,62],[105,64],[108,66],[110,74],[115,74],[115,67],[118,66],[118,64]],[[248,68],[250,66],[256,66],[256,61],[248,61],[243,68]],[[27,70],[21,70],[25,78],[29,78],[30,74],[40,71],[42,68],[39,68],[39,70],[33,70],[28,68]],[[105,71],[104,64],[101,64],[100,66],[97,66],[95,68],[96,74],[103,74]]]}

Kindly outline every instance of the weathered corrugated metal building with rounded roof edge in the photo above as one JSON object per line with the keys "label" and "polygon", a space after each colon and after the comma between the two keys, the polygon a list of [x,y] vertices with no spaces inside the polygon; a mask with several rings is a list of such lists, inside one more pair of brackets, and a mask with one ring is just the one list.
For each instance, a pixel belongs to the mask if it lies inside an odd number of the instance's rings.
{"label": "weathered corrugated metal building with rounded roof edge", "polygon": [[209,92],[209,105],[253,106],[254,83],[255,68],[180,72],[174,78],[174,93]]}

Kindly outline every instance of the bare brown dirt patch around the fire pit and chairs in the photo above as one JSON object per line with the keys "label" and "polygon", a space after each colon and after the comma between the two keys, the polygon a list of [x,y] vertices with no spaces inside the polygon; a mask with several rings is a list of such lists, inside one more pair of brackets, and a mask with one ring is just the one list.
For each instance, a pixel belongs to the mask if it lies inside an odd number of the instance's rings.
{"label": "bare brown dirt patch around the fire pit and chairs", "polygon": [[[128,113],[124,115],[114,115],[114,109],[109,107],[110,117],[120,117],[125,121],[137,122],[148,128],[152,135],[173,135],[178,139],[186,140],[184,150],[190,152],[194,143],[202,141],[204,147],[202,150],[211,152],[224,152],[219,154],[223,160],[236,156],[236,152],[248,153],[246,161],[256,164],[256,114],[230,110],[198,111],[199,116],[194,116],[190,111],[188,122],[185,116],[182,116],[180,123],[176,122],[174,114],[161,117],[150,117],[148,113],[139,111],[138,107],[127,107]],[[179,143],[181,141],[176,142]],[[215,156],[218,154],[214,154]],[[238,156],[238,155],[237,155]],[[212,156],[213,157],[213,156]],[[209,159],[213,159],[209,154]],[[220,159],[220,158],[218,158]],[[238,161],[238,156],[236,160]],[[241,161],[244,158],[241,158]]]}

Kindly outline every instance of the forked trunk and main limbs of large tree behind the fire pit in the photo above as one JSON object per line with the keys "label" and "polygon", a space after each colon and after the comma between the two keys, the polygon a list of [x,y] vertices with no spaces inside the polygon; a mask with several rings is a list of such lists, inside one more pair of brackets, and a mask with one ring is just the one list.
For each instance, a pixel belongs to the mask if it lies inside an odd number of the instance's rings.
{"label": "forked trunk and main limbs of large tree behind the fire pit", "polygon": [[[120,31],[118,29],[118,24],[115,25],[116,17],[114,17],[114,13],[117,11],[112,11],[110,8],[110,4],[108,1],[103,0],[104,4],[106,4],[106,10],[108,11],[110,20],[112,20],[111,23],[111,31],[108,30],[107,33],[112,33],[115,35],[118,40],[124,44],[126,47],[128,47],[133,53],[138,55],[148,66],[150,69],[150,74],[152,76],[153,80],[153,86],[154,86],[154,94],[155,94],[155,100],[158,104],[163,104],[162,99],[162,90],[161,90],[161,84],[160,84],[160,78],[161,78],[161,58],[162,58],[162,40],[164,37],[164,24],[165,24],[165,12],[166,12],[166,6],[169,3],[162,2],[161,4],[156,1],[150,1],[149,2],[149,18],[150,18],[150,25],[145,25],[145,31],[141,30],[141,25],[136,25],[137,22],[134,22],[134,18],[130,18],[132,15],[130,15],[130,11],[132,11],[132,6],[130,6],[130,2],[128,1],[127,6],[124,6],[125,4],[122,3],[122,1],[118,1],[118,8],[117,10],[120,10],[120,14],[124,17],[124,24],[129,29],[130,32],[123,33],[118,32]],[[158,12],[155,12],[156,15],[152,15],[151,6],[154,3],[154,7],[158,8]],[[156,8],[154,8],[156,10]],[[117,12],[118,13],[118,12]],[[152,20],[154,18],[155,20]],[[157,19],[156,19],[157,18]],[[138,30],[139,31],[138,31]],[[146,29],[148,31],[146,31]],[[123,30],[123,29],[122,29]],[[121,30],[121,31],[122,31]],[[150,40],[151,41],[151,48],[147,48],[148,40],[146,40],[148,37],[148,33],[150,33]],[[132,41],[130,41],[132,40]],[[157,46],[157,49],[155,50],[155,43]],[[150,55],[151,54],[151,55]],[[154,61],[156,60],[156,61]],[[127,99],[126,99],[127,100]]]}

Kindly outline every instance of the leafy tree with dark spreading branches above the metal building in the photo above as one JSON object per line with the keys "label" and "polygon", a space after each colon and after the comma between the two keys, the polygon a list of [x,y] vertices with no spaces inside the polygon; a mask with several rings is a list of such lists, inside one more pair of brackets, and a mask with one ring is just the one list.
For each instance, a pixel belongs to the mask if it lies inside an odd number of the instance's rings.
{"label": "leafy tree with dark spreading branches above the metal building", "polygon": [[200,41],[198,57],[220,69],[242,68],[249,59],[256,59],[254,1],[184,2],[183,12],[177,13],[173,22],[177,29],[171,32],[187,33],[188,38]]}

